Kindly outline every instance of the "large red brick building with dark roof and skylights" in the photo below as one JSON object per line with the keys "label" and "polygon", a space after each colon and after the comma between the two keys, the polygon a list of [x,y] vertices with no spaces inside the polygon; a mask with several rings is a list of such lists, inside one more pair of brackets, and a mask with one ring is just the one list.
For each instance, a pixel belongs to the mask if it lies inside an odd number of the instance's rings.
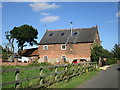
{"label": "large red brick building with dark roof and skylights", "polygon": [[74,59],[90,61],[91,45],[100,43],[98,28],[77,28],[63,30],[47,30],[38,45],[39,62],[50,63],[61,59],[72,63]]}

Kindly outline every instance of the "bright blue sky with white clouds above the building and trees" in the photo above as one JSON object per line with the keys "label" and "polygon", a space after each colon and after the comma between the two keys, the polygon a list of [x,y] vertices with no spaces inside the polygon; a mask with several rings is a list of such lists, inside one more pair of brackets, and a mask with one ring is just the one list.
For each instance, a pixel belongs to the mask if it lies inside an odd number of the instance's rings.
{"label": "bright blue sky with white clouds above the building and trees", "polygon": [[73,28],[98,25],[103,47],[111,50],[118,43],[118,17],[117,2],[3,2],[2,43],[7,42],[4,33],[13,27],[32,25],[38,29],[39,42],[45,33],[44,25],[49,30],[68,29],[72,21]]}

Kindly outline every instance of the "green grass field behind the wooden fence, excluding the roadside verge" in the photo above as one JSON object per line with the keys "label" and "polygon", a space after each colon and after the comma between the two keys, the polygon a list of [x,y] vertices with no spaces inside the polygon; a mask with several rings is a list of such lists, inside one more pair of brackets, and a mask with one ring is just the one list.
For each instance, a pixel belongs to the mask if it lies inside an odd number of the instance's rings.
{"label": "green grass field behind the wooden fence, excluding the roadside verge", "polygon": [[[2,69],[6,70],[6,69],[15,69],[15,68],[20,68],[20,80],[21,79],[25,79],[25,78],[31,78],[31,77],[35,77],[35,76],[39,76],[39,69],[29,69],[27,70],[27,68],[31,68],[33,66],[3,66]],[[40,66],[34,66],[34,67],[40,67]],[[25,68],[26,70],[22,70],[22,68]],[[60,68],[60,70],[62,70],[63,68]],[[52,73],[54,72],[54,68],[45,68],[43,70],[43,74],[48,74],[48,73]],[[49,77],[47,77],[49,78]],[[10,81],[14,81],[15,80],[15,72],[6,72],[6,73],[2,73],[2,83],[5,82],[10,82]],[[35,84],[39,83],[39,78],[38,79],[33,79],[33,80],[27,80],[25,82],[22,82],[20,84],[21,88],[27,88],[30,86],[34,86]],[[14,84],[8,85],[8,86],[4,86],[3,88],[15,88]]]}

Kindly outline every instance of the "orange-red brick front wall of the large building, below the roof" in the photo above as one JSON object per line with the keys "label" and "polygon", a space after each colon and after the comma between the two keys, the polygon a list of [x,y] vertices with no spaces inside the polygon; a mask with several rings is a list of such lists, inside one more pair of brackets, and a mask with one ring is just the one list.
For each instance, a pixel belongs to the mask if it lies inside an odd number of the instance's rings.
{"label": "orange-red brick front wall of the large building, below the roof", "polygon": [[66,56],[67,61],[70,63],[73,59],[87,59],[90,60],[91,43],[79,43],[79,44],[69,44],[66,50],[61,49],[62,44],[52,44],[48,45],[48,50],[43,50],[44,45],[39,45],[39,62],[44,62],[43,57],[48,56],[48,62],[55,63],[60,60],[62,56]]}

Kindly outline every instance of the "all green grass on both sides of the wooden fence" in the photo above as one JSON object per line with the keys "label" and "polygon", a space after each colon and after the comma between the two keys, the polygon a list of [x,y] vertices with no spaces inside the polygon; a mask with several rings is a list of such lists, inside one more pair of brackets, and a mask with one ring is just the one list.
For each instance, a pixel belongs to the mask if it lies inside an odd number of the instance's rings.
{"label": "all green grass on both sides of the wooden fence", "polygon": [[[43,64],[43,66],[46,66],[46,65]],[[29,69],[28,70],[27,68],[30,68],[30,67],[33,67],[33,66],[32,65],[31,66],[5,66],[5,67],[2,67],[2,69],[15,69],[15,68],[22,69],[22,68],[25,68],[26,70],[21,70],[20,71],[20,80],[25,79],[25,78],[31,78],[31,77],[34,77],[34,76],[39,76],[39,69]],[[40,67],[40,66],[38,65],[36,67]],[[64,67],[59,67],[58,72],[63,71],[63,69],[64,69]],[[72,68],[71,68],[71,66],[69,66],[69,71],[71,71],[71,70],[72,70]],[[48,74],[48,73],[52,73],[52,72],[55,72],[55,68],[46,68],[46,69],[43,70],[43,74]],[[80,83],[82,83],[86,80],[89,80],[96,73],[97,73],[97,71],[84,73],[81,76],[73,77],[67,83],[65,81],[63,81],[59,84],[52,85],[50,88],[74,88],[77,85],[79,85]],[[53,80],[54,75],[52,77],[51,76],[46,76],[45,79],[46,80],[47,79]],[[14,80],[15,80],[15,72],[2,73],[2,83],[14,81]],[[20,87],[21,88],[31,87],[31,86],[34,86],[36,84],[39,84],[39,82],[40,82],[39,78],[38,79],[33,79],[33,80],[26,80],[25,82],[22,82],[20,84]],[[9,85],[9,86],[4,86],[3,88],[15,88],[15,85],[12,84],[12,85]]]}

